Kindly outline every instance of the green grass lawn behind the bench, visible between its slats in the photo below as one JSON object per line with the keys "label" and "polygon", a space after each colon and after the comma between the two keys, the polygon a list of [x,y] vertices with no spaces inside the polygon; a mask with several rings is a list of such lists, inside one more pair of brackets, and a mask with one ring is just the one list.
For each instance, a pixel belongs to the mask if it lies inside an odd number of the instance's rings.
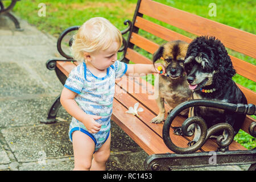
{"label": "green grass lawn behind the bench, visible between its slats", "polygon": [[[164,3],[165,5],[188,11],[189,13],[203,16],[204,18],[224,23],[228,26],[255,34],[256,1],[253,0],[158,0],[157,2]],[[8,4],[10,1],[4,1],[4,3]],[[46,4],[46,17],[38,16],[38,11],[40,9],[38,7],[39,3]],[[14,7],[14,11],[16,15],[20,16],[20,18],[26,19],[28,23],[34,24],[39,30],[57,37],[63,30],[65,30],[65,28],[74,25],[81,25],[89,18],[95,16],[105,17],[109,19],[110,22],[112,22],[117,28],[119,28],[119,30],[124,30],[126,26],[123,24],[123,22],[126,19],[133,19],[136,3],[136,0],[24,0],[17,2],[16,6]],[[217,16],[209,16],[209,3],[216,4]],[[189,38],[195,38],[195,35],[192,35],[184,30],[180,30],[179,28],[172,27],[169,24],[160,22],[147,16],[144,16],[144,18],[150,19],[152,22],[179,32],[180,34],[188,36]],[[164,40],[159,39],[148,32],[144,32],[143,30],[140,30],[139,34],[158,44],[165,42]],[[127,37],[127,35],[125,37]],[[148,52],[138,47],[135,47],[135,50],[148,57],[148,59],[151,59],[151,54]],[[236,56],[251,64],[256,64],[255,59],[249,56],[230,49],[228,49],[228,52],[230,55]],[[121,57],[121,53],[119,53],[118,56]],[[234,76],[233,79],[239,84],[256,92],[255,82],[250,81],[240,75]],[[151,82],[154,84],[154,79]],[[236,135],[235,140],[246,148],[253,148],[256,145],[255,138],[250,137],[250,135],[243,131],[240,131],[240,133]]]}

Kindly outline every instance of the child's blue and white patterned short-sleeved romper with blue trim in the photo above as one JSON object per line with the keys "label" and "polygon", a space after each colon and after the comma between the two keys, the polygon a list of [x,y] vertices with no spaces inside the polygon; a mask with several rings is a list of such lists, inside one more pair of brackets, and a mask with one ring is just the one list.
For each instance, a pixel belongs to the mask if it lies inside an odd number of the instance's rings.
{"label": "child's blue and white patterned short-sleeved romper with blue trim", "polygon": [[72,118],[69,125],[69,139],[72,142],[72,133],[81,131],[95,143],[96,152],[108,139],[110,133],[110,118],[113,109],[113,98],[115,92],[115,78],[122,77],[127,71],[127,64],[115,61],[107,68],[105,77],[99,78],[86,68],[85,63],[80,63],[71,73],[65,82],[64,87],[77,93],[75,101],[86,113],[101,116],[96,122],[101,124],[98,133],[91,134],[86,130],[84,124],[76,118]]}

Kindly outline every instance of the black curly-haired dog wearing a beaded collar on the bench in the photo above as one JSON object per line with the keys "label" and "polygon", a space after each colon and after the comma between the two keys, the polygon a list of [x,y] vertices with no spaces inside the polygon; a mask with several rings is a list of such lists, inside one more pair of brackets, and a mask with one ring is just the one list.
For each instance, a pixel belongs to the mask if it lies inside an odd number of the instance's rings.
{"label": "black curly-haired dog wearing a beaded collar on the bench", "polygon": [[[245,95],[232,80],[236,71],[220,40],[208,36],[194,39],[188,46],[184,68],[187,72],[189,88],[194,91],[193,98],[247,104]],[[208,129],[217,123],[229,123],[235,134],[238,133],[245,119],[244,114],[213,107],[196,106],[191,114],[203,118]],[[195,127],[195,138],[189,142],[189,146],[199,139],[199,129],[198,126]],[[223,135],[226,138],[226,131]]]}

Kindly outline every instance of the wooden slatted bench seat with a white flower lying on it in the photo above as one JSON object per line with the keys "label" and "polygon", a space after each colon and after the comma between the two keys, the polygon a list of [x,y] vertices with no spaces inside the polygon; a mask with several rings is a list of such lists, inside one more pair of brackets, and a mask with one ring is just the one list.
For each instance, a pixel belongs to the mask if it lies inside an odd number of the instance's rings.
{"label": "wooden slatted bench seat with a white flower lying on it", "polygon": [[[68,77],[68,74],[77,65],[76,62],[57,61],[56,66]],[[130,81],[129,81],[130,79]],[[132,80],[133,79],[133,80]],[[125,85],[125,84],[127,85]],[[115,82],[115,95],[113,101],[113,114],[112,120],[117,123],[148,155],[152,154],[164,154],[174,153],[163,142],[162,130],[163,123],[155,124],[150,123],[151,119],[158,114],[158,106],[155,100],[148,100],[148,97],[152,94],[148,94],[146,88],[148,83],[141,77],[127,77],[123,76],[121,79]],[[125,86],[124,86],[125,85]],[[132,88],[133,90],[129,89]],[[139,92],[135,92],[135,88]],[[128,91],[132,91],[129,93]],[[152,86],[154,90],[154,86]],[[127,114],[126,111],[130,106],[134,106],[136,102],[139,102],[139,107],[143,108],[143,112],[139,113],[139,117],[133,114]],[[165,104],[166,111],[170,110],[170,107]],[[167,117],[167,112],[166,112]],[[176,117],[172,122],[172,127],[181,126],[184,121],[184,117]],[[247,121],[245,126],[250,125],[251,121]],[[175,144],[179,147],[187,147],[187,143],[192,140],[192,137],[182,137],[173,134],[173,129],[170,130],[171,138],[175,141]],[[217,143],[214,139],[208,139],[204,146],[198,151],[216,151]],[[229,146],[229,150],[247,150],[241,144],[233,141]]]}

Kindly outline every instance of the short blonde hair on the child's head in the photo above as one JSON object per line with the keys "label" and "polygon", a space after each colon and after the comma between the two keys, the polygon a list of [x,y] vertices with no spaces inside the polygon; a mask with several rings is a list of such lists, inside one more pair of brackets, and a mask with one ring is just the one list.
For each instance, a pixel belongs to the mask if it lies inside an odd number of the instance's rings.
{"label": "short blonde hair on the child's head", "polygon": [[[71,47],[73,58],[77,61],[84,61],[84,52],[105,50],[113,42],[122,46],[121,32],[109,22],[109,20],[96,17],[87,20],[73,36]],[[119,49],[118,48],[118,49]]]}

